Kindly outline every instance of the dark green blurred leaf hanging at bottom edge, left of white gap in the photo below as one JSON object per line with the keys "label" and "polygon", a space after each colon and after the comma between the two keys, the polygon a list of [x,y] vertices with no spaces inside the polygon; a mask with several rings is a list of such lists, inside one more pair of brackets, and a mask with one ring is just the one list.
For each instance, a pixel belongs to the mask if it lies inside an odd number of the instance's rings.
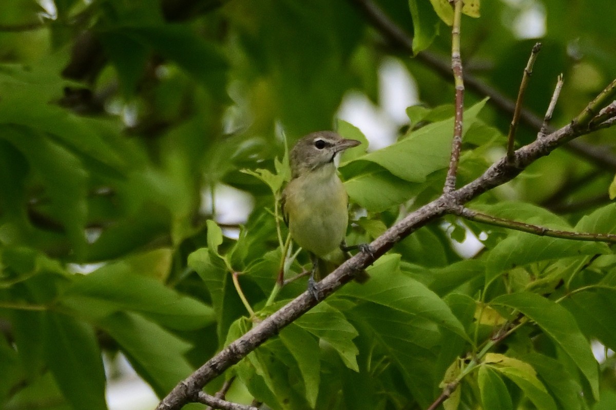
{"label": "dark green blurred leaf hanging at bottom edge, left of white gap", "polygon": [[71,406],[106,410],[105,372],[94,330],[69,316],[47,312],[44,344],[49,369]]}

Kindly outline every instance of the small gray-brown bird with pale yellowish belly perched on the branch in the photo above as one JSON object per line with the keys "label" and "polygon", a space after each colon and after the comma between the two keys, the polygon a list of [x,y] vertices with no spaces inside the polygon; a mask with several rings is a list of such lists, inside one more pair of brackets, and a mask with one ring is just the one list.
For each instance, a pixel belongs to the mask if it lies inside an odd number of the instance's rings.
{"label": "small gray-brown bird with pale yellowish belly perched on the branch", "polygon": [[[329,273],[323,262],[339,265],[346,259],[344,236],[349,224],[349,197],[334,159],[338,153],[357,145],[357,140],[319,131],[302,137],[290,153],[291,181],[283,191],[282,214],[291,238],[310,252],[312,273],[308,289],[316,299],[322,298],[315,292],[315,280]],[[367,279],[365,271],[355,277],[360,282]]]}

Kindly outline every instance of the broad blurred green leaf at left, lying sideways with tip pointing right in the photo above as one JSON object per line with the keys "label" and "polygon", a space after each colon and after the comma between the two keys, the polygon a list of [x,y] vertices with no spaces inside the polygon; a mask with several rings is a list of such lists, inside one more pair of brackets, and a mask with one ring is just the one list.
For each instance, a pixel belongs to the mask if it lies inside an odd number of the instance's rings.
{"label": "broad blurred green leaf at left, lying sideways with tip pointing right", "polygon": [[135,275],[122,262],[77,277],[59,302],[94,319],[130,310],[172,329],[199,329],[214,321],[214,311],[147,276]]}

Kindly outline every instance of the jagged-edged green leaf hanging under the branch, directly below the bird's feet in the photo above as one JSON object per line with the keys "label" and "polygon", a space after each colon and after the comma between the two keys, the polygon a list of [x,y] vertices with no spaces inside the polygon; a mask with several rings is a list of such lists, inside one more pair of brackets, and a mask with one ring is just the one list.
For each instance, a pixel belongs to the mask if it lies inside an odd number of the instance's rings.
{"label": "jagged-edged green leaf hanging under the branch, directly below the bird's feet", "polygon": [[358,332],[338,309],[327,302],[321,302],[294,323],[319,339],[325,340],[338,352],[347,368],[359,371],[357,366],[359,350],[353,342]]}

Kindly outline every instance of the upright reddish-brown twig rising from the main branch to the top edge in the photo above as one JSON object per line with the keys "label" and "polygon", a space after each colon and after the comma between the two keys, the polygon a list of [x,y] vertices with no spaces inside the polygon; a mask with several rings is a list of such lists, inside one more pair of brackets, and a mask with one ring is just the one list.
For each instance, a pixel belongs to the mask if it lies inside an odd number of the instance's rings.
{"label": "upright reddish-brown twig rising from the main branch to the top edge", "polygon": [[462,20],[462,0],[453,2],[453,25],[452,25],[452,71],[453,82],[456,87],[455,119],[453,123],[452,156],[449,161],[449,169],[445,178],[443,192],[451,192],[456,188],[456,175],[460,162],[460,148],[462,147],[462,118],[464,113],[464,80],[462,73],[462,58],[460,55],[460,25]]}

